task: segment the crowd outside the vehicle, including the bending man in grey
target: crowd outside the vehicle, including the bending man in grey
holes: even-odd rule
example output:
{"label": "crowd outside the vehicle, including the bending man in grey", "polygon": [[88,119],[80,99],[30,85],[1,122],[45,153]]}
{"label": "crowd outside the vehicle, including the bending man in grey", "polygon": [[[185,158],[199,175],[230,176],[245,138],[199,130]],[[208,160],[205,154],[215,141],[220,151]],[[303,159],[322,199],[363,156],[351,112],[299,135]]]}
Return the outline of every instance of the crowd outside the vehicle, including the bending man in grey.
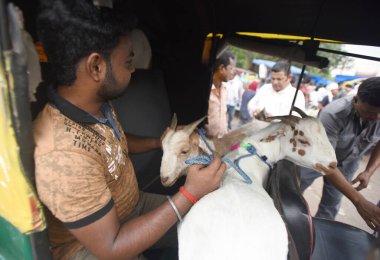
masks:
{"label": "crowd outside the vehicle, including the bending man in grey", "polygon": [[[224,102],[220,100],[218,107],[210,98],[209,126],[223,125],[223,131],[227,133],[231,129],[232,111],[236,107],[239,107],[239,124],[236,127],[252,120],[289,115],[293,103],[310,116],[319,117],[336,150],[338,170],[336,174],[324,176],[323,194],[316,216],[334,219],[343,193],[352,201],[370,227],[380,224],[380,209],[357,192],[368,186],[371,176],[380,166],[380,77],[366,79],[357,86],[338,85],[333,82],[318,87],[312,84],[309,77],[305,77],[300,84],[300,90],[297,91],[289,62],[278,61],[270,70],[268,83],[261,86],[256,81],[241,84],[239,75],[236,72],[233,74],[234,57],[230,53],[225,55],[228,55],[229,63],[217,67],[212,91],[215,84],[221,83],[226,89],[225,93],[232,95],[226,97],[229,102],[225,111],[230,112],[223,122],[213,122],[216,119],[213,116],[216,110],[223,113],[220,106],[223,106]],[[221,77],[215,76],[221,73],[220,70],[225,76],[222,82]],[[242,93],[240,89],[243,89]],[[211,95],[215,97],[213,92]],[[219,97],[222,98],[222,95]],[[218,133],[210,136],[219,138],[222,136],[221,131]],[[369,162],[365,170],[353,179],[364,155],[370,156]],[[301,167],[301,190],[304,191],[320,176],[320,172]],[[351,182],[358,184],[357,187],[354,188]]]}

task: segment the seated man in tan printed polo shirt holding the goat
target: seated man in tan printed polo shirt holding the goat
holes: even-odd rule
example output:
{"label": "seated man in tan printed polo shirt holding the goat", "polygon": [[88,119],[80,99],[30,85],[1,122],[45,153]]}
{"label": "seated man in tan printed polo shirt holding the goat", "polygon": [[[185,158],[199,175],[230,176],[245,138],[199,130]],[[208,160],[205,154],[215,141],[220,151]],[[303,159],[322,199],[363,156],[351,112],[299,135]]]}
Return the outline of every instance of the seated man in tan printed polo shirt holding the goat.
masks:
{"label": "seated man in tan printed polo shirt holding the goat", "polygon": [[190,166],[173,196],[140,192],[129,153],[160,138],[123,133],[110,99],[134,72],[130,25],[90,1],[43,2],[37,20],[54,84],[33,123],[35,174],[53,259],[141,259],[153,245],[176,248],[176,223],[220,185],[214,156]]}

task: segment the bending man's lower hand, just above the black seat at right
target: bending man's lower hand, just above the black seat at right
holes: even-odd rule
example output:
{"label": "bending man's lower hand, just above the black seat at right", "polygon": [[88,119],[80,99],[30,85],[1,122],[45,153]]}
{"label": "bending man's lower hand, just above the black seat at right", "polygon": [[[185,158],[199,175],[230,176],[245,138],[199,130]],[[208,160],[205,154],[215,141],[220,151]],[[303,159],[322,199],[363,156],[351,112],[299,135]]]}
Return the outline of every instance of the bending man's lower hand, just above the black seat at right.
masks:
{"label": "bending man's lower hand, just above the black seat at right", "polygon": [[367,225],[373,230],[380,230],[380,208],[362,197],[355,207]]}

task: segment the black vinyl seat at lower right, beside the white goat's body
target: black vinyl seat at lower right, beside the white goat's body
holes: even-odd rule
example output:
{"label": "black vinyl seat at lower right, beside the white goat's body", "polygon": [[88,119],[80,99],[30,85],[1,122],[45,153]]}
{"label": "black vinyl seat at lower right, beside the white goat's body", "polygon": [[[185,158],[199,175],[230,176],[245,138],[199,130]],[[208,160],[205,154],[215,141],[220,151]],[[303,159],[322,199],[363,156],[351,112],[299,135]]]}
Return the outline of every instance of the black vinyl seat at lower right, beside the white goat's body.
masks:
{"label": "black vinyl seat at lower right, beside the white goat's body", "polygon": [[[289,259],[360,260],[367,259],[375,237],[348,224],[311,217],[299,189],[299,168],[279,161],[271,172],[267,190],[286,223]],[[293,252],[293,254],[292,254]]]}

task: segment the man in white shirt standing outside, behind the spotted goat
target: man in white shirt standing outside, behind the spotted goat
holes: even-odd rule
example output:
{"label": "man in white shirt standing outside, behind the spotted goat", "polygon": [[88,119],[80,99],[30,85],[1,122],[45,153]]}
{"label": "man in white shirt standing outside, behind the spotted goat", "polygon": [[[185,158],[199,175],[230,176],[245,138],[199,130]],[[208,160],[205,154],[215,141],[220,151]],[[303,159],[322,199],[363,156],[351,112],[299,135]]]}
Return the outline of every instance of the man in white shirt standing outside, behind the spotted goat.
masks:
{"label": "man in white shirt standing outside, behind the spotted goat", "polygon": [[[278,61],[271,69],[271,84],[263,85],[248,103],[248,111],[257,116],[265,109],[265,116],[288,115],[296,88],[290,84],[290,64]],[[294,106],[305,110],[305,96],[298,91]]]}

